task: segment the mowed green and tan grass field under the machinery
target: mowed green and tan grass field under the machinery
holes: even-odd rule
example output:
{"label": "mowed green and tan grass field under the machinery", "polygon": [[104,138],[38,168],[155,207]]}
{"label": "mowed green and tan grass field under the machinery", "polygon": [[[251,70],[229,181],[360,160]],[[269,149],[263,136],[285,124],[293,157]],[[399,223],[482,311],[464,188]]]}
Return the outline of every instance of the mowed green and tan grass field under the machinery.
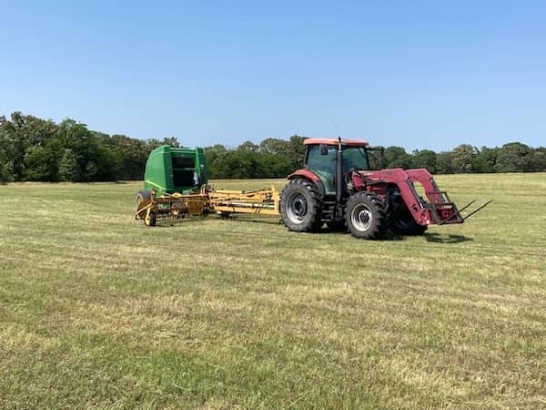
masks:
{"label": "mowed green and tan grass field under the machinery", "polygon": [[140,183],[0,186],[0,407],[546,407],[546,174],[437,180],[495,201],[359,241],[147,228]]}

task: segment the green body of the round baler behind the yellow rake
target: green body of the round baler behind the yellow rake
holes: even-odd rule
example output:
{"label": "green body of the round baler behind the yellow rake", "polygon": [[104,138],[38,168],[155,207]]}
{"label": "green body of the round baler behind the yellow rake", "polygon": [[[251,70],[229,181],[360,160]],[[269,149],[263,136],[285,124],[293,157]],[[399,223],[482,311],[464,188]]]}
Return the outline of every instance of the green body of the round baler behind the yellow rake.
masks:
{"label": "green body of the round baler behind the yellow rake", "polygon": [[187,193],[207,183],[207,163],[203,149],[174,148],[167,145],[154,149],[146,163],[145,190]]}

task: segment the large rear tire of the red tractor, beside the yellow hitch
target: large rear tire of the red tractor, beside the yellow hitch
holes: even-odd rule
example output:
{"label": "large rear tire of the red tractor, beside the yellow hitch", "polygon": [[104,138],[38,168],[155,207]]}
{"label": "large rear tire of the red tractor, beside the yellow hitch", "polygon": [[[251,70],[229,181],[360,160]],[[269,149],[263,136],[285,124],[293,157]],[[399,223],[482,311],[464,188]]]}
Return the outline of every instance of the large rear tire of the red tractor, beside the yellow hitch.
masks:
{"label": "large rear tire of the red tractor, beside the yellow hitch", "polygon": [[319,231],[322,198],[307,179],[292,179],[280,195],[280,218],[290,231]]}

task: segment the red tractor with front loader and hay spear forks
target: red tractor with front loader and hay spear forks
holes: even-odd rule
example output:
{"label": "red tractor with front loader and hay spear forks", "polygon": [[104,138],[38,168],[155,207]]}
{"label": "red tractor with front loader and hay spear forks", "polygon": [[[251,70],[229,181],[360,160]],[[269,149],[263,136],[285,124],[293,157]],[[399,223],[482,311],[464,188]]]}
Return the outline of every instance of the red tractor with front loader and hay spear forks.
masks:
{"label": "red tractor with front loader and hay spear forks", "polygon": [[304,144],[304,168],[288,176],[280,198],[290,231],[319,231],[326,223],[364,239],[382,238],[388,230],[422,235],[430,224],[462,223],[489,203],[463,218],[427,169],[371,170],[369,151],[378,148],[366,141],[308,138]]}

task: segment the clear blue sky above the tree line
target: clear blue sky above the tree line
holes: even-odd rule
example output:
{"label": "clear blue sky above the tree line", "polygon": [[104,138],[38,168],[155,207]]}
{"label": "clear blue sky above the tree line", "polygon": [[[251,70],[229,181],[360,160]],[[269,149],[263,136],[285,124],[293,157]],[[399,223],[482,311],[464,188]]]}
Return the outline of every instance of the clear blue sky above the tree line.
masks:
{"label": "clear blue sky above the tree line", "polygon": [[0,0],[14,110],[187,146],[544,146],[546,1]]}

